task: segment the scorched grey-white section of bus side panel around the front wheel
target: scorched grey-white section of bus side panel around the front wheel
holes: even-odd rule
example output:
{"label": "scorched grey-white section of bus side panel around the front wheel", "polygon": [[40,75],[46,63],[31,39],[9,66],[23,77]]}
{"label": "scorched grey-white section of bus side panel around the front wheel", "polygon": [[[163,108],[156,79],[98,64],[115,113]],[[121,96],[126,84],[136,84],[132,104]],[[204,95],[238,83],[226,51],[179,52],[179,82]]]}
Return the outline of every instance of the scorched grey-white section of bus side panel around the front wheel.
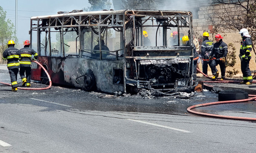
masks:
{"label": "scorched grey-white section of bus side panel around the front wheel", "polygon": [[[123,62],[110,62],[102,60],[88,60],[79,58],[67,57],[63,61],[64,82],[72,84],[75,87],[82,87],[75,82],[77,77],[85,75],[85,72],[90,69],[94,73],[96,79],[97,90],[113,93],[115,91],[124,91],[123,84],[113,83],[113,69],[123,69]],[[83,78],[78,79],[78,83],[83,83]]]}

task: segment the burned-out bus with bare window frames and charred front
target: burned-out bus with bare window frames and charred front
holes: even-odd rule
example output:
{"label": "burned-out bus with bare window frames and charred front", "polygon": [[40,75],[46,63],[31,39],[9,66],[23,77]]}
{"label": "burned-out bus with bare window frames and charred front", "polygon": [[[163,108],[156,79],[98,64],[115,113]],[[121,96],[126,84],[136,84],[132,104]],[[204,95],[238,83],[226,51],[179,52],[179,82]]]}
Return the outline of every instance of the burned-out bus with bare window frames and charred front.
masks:
{"label": "burned-out bus with bare window frames and charred front", "polygon": [[[31,17],[30,23],[31,47],[54,84],[113,93],[193,83],[189,11],[70,12]],[[191,45],[184,46],[182,36]],[[47,83],[35,63],[32,80]]]}

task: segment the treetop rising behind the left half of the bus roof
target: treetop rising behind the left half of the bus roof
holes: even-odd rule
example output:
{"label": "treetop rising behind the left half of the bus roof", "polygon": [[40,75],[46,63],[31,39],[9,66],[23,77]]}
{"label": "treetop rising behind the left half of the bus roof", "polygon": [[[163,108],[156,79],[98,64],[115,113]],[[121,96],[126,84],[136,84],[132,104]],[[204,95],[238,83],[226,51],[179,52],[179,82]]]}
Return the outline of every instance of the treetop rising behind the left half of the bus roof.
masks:
{"label": "treetop rising behind the left half of the bus roof", "polygon": [[91,4],[90,7],[83,8],[84,11],[100,11],[103,9],[110,9],[111,2],[110,0],[88,0]]}

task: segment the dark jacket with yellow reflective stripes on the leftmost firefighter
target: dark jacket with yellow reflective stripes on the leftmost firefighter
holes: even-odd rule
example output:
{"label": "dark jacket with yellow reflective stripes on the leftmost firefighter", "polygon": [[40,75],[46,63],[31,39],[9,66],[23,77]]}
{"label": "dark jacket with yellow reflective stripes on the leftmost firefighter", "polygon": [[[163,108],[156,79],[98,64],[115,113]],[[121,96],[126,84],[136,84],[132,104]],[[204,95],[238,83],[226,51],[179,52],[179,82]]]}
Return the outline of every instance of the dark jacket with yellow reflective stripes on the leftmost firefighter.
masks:
{"label": "dark jacket with yellow reflective stripes on the leftmost firefighter", "polygon": [[3,60],[7,60],[7,68],[19,68],[19,49],[9,46],[3,53]]}

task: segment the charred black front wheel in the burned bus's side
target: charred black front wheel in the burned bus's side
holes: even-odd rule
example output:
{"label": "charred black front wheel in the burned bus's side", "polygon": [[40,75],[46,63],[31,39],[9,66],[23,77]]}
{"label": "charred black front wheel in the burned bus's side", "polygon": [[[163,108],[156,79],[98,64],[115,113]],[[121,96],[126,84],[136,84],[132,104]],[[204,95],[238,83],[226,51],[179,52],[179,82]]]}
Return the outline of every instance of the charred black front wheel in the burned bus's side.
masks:
{"label": "charred black front wheel in the burned bus's side", "polygon": [[96,80],[91,69],[85,72],[84,83],[85,83],[85,91],[95,90]]}

